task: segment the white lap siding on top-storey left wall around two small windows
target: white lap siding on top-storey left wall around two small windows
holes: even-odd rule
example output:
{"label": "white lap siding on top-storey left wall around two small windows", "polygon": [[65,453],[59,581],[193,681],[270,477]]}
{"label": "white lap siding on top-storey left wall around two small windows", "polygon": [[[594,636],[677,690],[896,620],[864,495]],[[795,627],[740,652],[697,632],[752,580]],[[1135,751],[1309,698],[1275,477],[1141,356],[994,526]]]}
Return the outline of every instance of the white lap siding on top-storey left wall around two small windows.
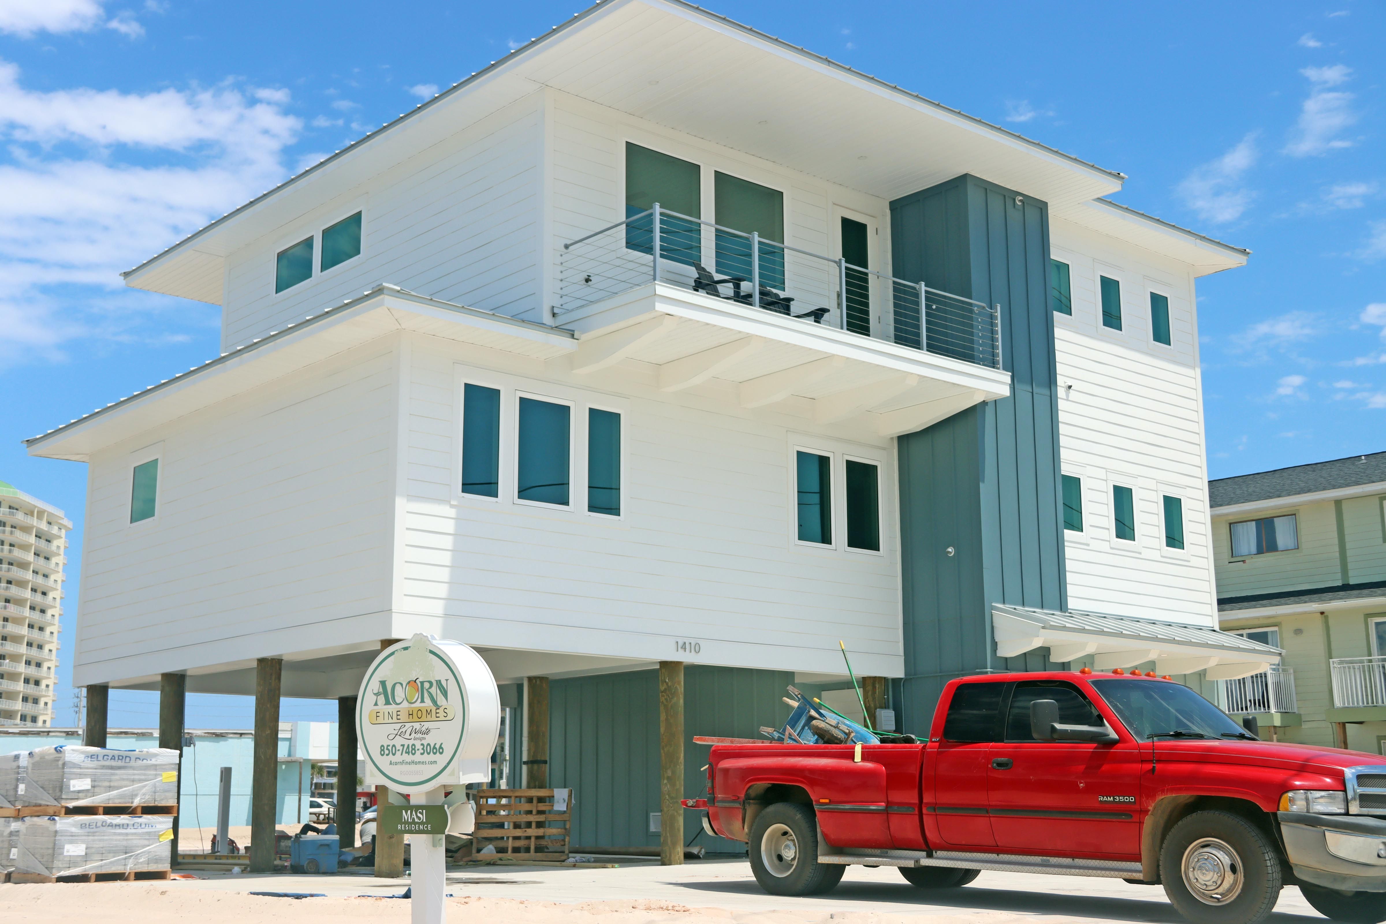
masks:
{"label": "white lap siding on top-storey left wall around two small windows", "polygon": [[[538,94],[419,151],[227,259],[223,349],[377,283],[542,320]],[[362,211],[362,255],[274,294],[276,254]],[[320,240],[320,238],[319,238]],[[322,259],[315,249],[315,269]]]}

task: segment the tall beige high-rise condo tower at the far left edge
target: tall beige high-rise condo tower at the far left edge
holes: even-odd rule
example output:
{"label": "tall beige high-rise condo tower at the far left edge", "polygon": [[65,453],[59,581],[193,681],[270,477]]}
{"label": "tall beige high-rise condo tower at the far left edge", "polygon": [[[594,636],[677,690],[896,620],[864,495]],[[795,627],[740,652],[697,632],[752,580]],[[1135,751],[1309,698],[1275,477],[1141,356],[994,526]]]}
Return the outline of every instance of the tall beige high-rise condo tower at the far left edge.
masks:
{"label": "tall beige high-rise condo tower at the far left edge", "polygon": [[71,529],[61,510],[0,481],[0,725],[53,722]]}

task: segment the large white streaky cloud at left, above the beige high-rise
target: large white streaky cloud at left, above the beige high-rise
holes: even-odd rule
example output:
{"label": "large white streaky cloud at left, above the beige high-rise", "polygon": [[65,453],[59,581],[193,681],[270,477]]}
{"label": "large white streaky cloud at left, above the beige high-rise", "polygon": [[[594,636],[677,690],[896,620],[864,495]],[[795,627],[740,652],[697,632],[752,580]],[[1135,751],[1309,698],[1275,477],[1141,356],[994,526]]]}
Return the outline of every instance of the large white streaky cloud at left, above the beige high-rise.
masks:
{"label": "large white streaky cloud at left, above the beige high-rise", "polygon": [[118,337],[134,321],[98,308],[118,273],[281,180],[299,127],[231,86],[44,93],[0,61],[0,330],[47,356]]}

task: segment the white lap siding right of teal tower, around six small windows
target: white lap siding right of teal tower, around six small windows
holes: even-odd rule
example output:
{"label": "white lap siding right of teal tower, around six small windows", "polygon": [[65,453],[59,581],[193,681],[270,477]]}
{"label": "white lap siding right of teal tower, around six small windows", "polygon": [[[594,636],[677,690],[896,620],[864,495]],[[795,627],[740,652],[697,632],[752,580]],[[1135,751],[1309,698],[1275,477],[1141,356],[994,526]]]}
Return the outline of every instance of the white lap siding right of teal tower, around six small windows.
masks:
{"label": "white lap siding right of teal tower, around six small windows", "polygon": [[[1216,625],[1192,273],[1063,222],[1052,234],[1073,295],[1073,316],[1055,314],[1060,460],[1082,479],[1069,605]],[[1099,276],[1121,283],[1121,331],[1102,327]],[[1152,290],[1170,299],[1170,346],[1152,341]],[[1114,485],[1134,492],[1135,543],[1114,539]],[[1184,506],[1184,551],[1164,546],[1166,495]]]}

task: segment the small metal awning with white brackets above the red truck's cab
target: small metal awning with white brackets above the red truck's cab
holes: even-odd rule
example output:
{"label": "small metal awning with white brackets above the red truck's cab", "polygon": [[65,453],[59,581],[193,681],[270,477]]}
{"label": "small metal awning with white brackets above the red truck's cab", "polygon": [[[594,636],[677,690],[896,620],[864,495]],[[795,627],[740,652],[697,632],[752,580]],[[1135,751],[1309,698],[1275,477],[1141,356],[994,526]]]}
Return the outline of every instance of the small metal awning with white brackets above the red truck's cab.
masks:
{"label": "small metal awning with white brackets above the red truck's cab", "polygon": [[1235,680],[1281,662],[1279,648],[1229,632],[1159,619],[992,604],[991,625],[997,657],[1048,647],[1049,659],[1062,664],[1095,655],[1096,670],[1155,661],[1157,673],[1203,670],[1209,680]]}

